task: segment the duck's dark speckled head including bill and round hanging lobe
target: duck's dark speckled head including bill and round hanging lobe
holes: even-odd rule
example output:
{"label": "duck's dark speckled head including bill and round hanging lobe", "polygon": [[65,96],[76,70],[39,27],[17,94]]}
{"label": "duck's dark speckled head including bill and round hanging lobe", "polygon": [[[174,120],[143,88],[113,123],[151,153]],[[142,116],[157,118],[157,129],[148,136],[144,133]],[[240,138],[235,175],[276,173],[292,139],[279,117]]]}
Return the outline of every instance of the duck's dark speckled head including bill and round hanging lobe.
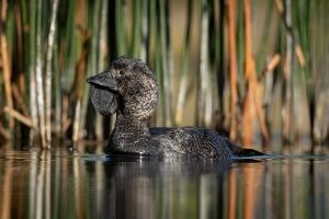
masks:
{"label": "duck's dark speckled head including bill and round hanging lobe", "polygon": [[91,102],[102,115],[118,112],[148,118],[157,107],[158,85],[152,71],[139,59],[120,57],[110,69],[87,79]]}

